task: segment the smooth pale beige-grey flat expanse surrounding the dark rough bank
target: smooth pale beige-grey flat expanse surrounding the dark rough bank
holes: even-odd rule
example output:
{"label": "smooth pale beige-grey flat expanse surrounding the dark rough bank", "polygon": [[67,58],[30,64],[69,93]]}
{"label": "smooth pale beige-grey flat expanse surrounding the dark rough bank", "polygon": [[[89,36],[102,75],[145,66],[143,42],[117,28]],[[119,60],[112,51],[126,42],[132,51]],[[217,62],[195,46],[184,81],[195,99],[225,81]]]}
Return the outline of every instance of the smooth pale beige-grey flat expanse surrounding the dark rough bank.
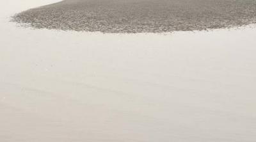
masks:
{"label": "smooth pale beige-grey flat expanse surrounding the dark rough bank", "polygon": [[255,142],[256,28],[31,29],[0,0],[0,141]]}

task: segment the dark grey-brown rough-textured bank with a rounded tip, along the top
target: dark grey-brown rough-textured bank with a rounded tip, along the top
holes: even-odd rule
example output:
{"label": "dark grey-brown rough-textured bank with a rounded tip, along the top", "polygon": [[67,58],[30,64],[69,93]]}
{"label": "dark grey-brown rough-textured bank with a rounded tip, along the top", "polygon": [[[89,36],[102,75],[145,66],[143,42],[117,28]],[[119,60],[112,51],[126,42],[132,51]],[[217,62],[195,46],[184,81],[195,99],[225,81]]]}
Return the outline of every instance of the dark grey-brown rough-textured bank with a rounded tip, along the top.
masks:
{"label": "dark grey-brown rough-textured bank with a rounded tip, along the top", "polygon": [[256,23],[256,0],[65,0],[13,16],[33,28],[163,33]]}

